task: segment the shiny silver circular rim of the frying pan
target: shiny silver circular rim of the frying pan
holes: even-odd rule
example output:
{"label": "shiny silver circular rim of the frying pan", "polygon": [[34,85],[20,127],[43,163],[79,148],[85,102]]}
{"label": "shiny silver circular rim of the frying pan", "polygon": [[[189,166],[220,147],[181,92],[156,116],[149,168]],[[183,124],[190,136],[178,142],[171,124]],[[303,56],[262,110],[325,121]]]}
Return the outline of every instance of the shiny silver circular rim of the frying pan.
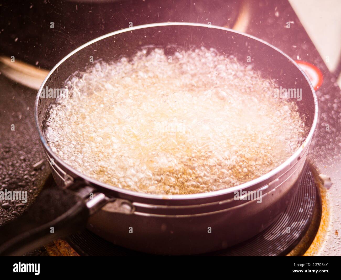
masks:
{"label": "shiny silver circular rim of the frying pan", "polygon": [[[105,39],[107,37],[110,36],[114,36],[120,33],[124,33],[124,32],[129,32],[132,30],[137,30],[137,29],[143,29],[143,28],[149,28],[149,27],[161,27],[161,26],[197,26],[197,27],[207,27],[207,28],[215,28],[215,29],[221,29],[224,31],[229,31],[229,32],[233,32],[233,33],[237,33],[240,35],[243,35],[245,37],[251,38],[253,40],[256,40],[258,42],[261,42],[271,48],[273,48],[274,50],[276,50],[278,53],[282,54],[284,57],[286,57],[289,61],[292,62],[292,64],[294,64],[299,71],[303,74],[303,76],[306,78],[306,80],[308,81],[308,84],[310,86],[312,95],[313,95],[313,99],[314,99],[314,118],[313,118],[313,123],[311,125],[310,131],[308,133],[308,136],[306,137],[306,139],[303,141],[303,143],[300,145],[300,147],[297,149],[297,151],[290,156],[288,159],[285,160],[284,163],[282,163],[281,165],[279,165],[278,167],[276,167],[275,169],[272,169],[270,172],[264,174],[261,177],[258,177],[256,179],[253,179],[251,181],[248,181],[246,183],[234,186],[234,187],[230,187],[230,188],[226,188],[223,190],[219,190],[219,191],[213,191],[213,192],[208,192],[208,193],[199,193],[199,194],[183,194],[183,195],[172,195],[172,196],[168,196],[168,195],[155,195],[155,194],[145,194],[145,193],[139,193],[139,192],[134,192],[134,191],[130,191],[130,190],[126,190],[123,188],[119,188],[113,185],[109,185],[109,184],[105,184],[102,183],[98,180],[92,179],[88,176],[86,176],[83,173],[80,173],[78,170],[72,168],[71,166],[67,165],[66,163],[63,162],[63,160],[61,160],[49,147],[49,145],[46,142],[46,139],[43,135],[42,129],[39,125],[39,121],[38,121],[38,104],[39,104],[39,98],[40,98],[40,93],[41,90],[43,89],[45,83],[47,82],[47,80],[49,79],[49,77],[51,76],[51,74],[53,74],[53,72],[69,57],[71,57],[72,55],[74,55],[75,53],[77,53],[78,51],[80,51],[81,49],[91,45],[92,43],[95,43],[97,41],[100,41],[102,39]],[[100,185],[103,188],[106,188],[108,190],[112,190],[112,191],[116,191],[116,192],[120,192],[120,193],[124,193],[130,196],[137,196],[137,197],[141,197],[141,198],[149,198],[149,199],[171,199],[171,200],[183,200],[183,199],[200,199],[200,198],[206,198],[206,197],[214,197],[214,196],[219,196],[219,195],[224,195],[224,194],[229,194],[229,193],[233,193],[236,190],[243,190],[244,188],[250,187],[254,184],[258,184],[261,183],[262,181],[268,180],[269,178],[276,176],[277,173],[280,173],[286,166],[291,165],[294,160],[297,160],[297,158],[299,158],[302,154],[304,154],[307,145],[310,144],[310,141],[313,137],[313,133],[314,130],[316,129],[317,126],[317,118],[318,118],[318,101],[317,101],[317,96],[315,93],[315,90],[311,84],[311,82],[309,81],[307,75],[305,74],[305,72],[303,72],[303,70],[297,65],[297,63],[290,58],[288,55],[286,55],[285,53],[283,53],[281,50],[279,50],[277,47],[272,46],[271,44],[258,39],[254,36],[251,36],[249,34],[243,33],[243,32],[238,32],[229,28],[225,28],[225,27],[220,27],[220,26],[215,26],[215,25],[208,25],[208,24],[200,24],[200,23],[184,23],[184,22],[168,22],[168,23],[153,23],[153,24],[145,24],[145,25],[139,25],[139,26],[135,26],[135,27],[130,27],[130,28],[125,28],[125,29],[121,29],[118,31],[114,31],[114,32],[110,32],[108,34],[105,34],[103,36],[100,36],[96,39],[93,39],[87,43],[85,43],[84,45],[81,45],[80,47],[76,48],[74,51],[72,51],[71,53],[69,53],[68,55],[66,55],[63,59],[61,59],[56,66],[48,73],[48,75],[46,76],[46,78],[44,79],[42,85],[40,86],[40,89],[38,91],[38,94],[36,96],[35,99],[35,104],[34,104],[34,118],[35,118],[35,124],[38,128],[38,132],[39,132],[39,136],[40,139],[42,141],[42,144],[44,146],[44,148],[51,154],[54,156],[54,158],[58,158],[60,164],[65,168],[68,169],[70,171],[72,171],[74,174],[76,174],[76,176],[83,178],[85,180],[87,180],[89,183],[92,183],[94,185]]]}

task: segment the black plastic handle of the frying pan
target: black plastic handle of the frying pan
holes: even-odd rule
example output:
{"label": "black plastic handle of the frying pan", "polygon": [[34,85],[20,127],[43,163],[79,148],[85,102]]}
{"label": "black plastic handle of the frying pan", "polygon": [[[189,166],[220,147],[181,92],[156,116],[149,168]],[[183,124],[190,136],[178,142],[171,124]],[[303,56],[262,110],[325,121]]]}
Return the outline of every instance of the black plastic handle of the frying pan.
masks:
{"label": "black plastic handle of the frying pan", "polygon": [[0,255],[23,255],[78,232],[85,227],[90,211],[79,193],[61,188],[45,189],[23,215],[0,227]]}

